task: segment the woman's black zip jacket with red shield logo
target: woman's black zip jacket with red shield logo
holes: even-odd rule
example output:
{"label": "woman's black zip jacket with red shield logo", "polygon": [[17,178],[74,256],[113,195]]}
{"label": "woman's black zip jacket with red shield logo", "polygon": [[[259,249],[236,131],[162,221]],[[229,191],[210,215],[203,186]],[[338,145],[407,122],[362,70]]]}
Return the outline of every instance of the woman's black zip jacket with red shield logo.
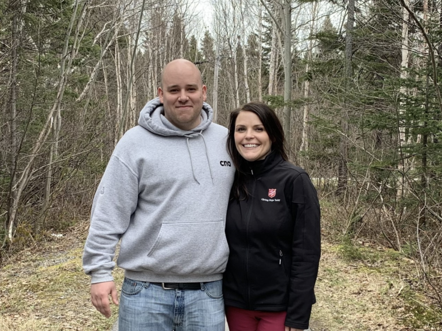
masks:
{"label": "woman's black zip jacket with red shield logo", "polygon": [[249,162],[249,198],[232,198],[226,305],[287,311],[285,325],[308,329],[321,255],[320,208],[307,173],[276,153]]}

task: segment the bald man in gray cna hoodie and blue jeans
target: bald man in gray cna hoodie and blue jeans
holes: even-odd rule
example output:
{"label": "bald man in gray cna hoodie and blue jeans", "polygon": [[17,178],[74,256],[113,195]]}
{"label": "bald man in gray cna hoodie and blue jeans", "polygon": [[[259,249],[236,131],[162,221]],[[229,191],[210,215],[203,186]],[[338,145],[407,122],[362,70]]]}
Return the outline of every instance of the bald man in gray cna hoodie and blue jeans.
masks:
{"label": "bald man in gray cna hoodie and blue jeans", "polygon": [[211,123],[201,73],[166,65],[158,96],[121,138],[95,194],[83,268],[91,301],[111,316],[111,270],[125,270],[119,331],[223,331],[225,215],[234,168],[227,129]]}

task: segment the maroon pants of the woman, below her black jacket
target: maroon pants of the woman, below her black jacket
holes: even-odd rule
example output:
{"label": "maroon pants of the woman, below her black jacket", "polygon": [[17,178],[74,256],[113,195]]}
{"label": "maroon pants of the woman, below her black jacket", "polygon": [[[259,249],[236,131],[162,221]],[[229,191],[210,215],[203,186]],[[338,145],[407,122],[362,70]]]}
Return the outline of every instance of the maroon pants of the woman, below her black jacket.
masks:
{"label": "maroon pants of the woman, below her black jacket", "polygon": [[225,306],[230,331],[284,331],[286,311],[254,311]]}

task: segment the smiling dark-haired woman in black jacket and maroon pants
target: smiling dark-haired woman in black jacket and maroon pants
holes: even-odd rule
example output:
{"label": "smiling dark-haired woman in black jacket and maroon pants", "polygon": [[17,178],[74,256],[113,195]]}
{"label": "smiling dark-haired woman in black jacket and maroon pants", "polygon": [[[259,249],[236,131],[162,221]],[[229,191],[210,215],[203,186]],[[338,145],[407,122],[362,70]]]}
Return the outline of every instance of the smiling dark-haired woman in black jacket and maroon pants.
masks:
{"label": "smiling dark-haired woman in black jacket and maroon pants", "polygon": [[236,167],[227,210],[223,277],[230,331],[308,329],[321,254],[316,191],[287,161],[275,112],[250,102],[230,114],[227,149]]}

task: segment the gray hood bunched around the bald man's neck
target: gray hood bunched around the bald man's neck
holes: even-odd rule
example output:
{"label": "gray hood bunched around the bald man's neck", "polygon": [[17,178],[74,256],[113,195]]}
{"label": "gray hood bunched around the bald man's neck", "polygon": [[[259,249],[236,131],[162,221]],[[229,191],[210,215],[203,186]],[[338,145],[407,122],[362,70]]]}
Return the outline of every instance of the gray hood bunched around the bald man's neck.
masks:
{"label": "gray hood bunched around the bald man's neck", "polygon": [[167,120],[160,98],[155,98],[149,101],[140,111],[138,124],[144,129],[160,136],[187,136],[207,129],[212,123],[212,119],[212,107],[204,102],[201,109],[201,123],[190,131],[181,130]]}

